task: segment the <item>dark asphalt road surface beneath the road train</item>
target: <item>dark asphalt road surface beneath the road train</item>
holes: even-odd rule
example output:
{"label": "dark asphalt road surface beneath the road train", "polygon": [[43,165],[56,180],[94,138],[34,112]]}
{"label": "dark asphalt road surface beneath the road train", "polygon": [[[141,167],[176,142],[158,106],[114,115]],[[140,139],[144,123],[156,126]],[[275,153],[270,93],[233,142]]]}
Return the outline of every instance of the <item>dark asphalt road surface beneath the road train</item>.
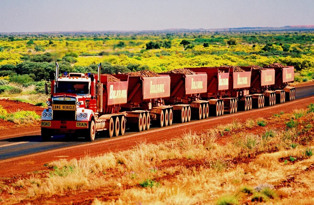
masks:
{"label": "dark asphalt road surface beneath the road train", "polygon": [[[295,93],[296,93],[295,99],[313,96],[314,86],[312,85],[312,86],[305,86],[305,87],[296,87]],[[289,102],[286,102],[286,103],[289,103]],[[275,106],[280,106],[280,105],[275,105]],[[241,112],[244,112],[244,111],[241,111]],[[191,122],[193,121],[194,120],[191,120]],[[150,128],[150,130],[154,130],[154,129],[160,129],[160,128]],[[36,135],[12,137],[9,139],[0,140],[0,160],[6,160],[6,159],[11,159],[15,157],[24,156],[24,155],[39,153],[43,151],[55,150],[59,148],[65,148],[65,147],[71,147],[75,145],[90,143],[90,142],[85,142],[83,138],[68,140],[64,138],[64,136],[62,135],[53,136],[50,142],[43,142],[41,140],[40,133],[38,132],[35,134]],[[134,134],[134,132],[126,131],[125,135],[129,135],[129,134]],[[106,139],[108,138],[100,138],[96,136],[96,139],[94,142],[99,142]]]}

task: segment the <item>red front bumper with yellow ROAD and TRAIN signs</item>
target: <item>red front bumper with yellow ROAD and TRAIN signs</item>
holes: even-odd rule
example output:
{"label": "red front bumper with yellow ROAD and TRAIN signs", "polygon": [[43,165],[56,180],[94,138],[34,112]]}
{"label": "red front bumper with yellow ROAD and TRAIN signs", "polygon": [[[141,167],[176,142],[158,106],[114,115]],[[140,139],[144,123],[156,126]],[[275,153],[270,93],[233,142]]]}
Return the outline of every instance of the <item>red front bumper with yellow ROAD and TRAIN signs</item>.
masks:
{"label": "red front bumper with yellow ROAD and TRAIN signs", "polygon": [[87,129],[88,121],[41,120],[41,128],[71,132],[70,130]]}

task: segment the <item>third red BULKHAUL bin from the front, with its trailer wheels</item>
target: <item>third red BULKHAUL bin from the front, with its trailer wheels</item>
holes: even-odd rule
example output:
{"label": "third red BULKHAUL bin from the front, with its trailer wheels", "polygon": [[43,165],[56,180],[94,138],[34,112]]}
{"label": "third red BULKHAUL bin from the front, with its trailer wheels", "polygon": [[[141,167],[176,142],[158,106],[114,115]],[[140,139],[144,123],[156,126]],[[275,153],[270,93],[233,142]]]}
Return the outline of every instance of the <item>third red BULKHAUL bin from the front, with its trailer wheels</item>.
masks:
{"label": "third red BULKHAUL bin from the front, with its trailer wheels", "polygon": [[193,119],[208,118],[209,104],[201,100],[200,93],[206,92],[206,73],[160,73],[170,76],[170,96],[164,98],[166,105],[173,107],[174,121],[189,122]]}

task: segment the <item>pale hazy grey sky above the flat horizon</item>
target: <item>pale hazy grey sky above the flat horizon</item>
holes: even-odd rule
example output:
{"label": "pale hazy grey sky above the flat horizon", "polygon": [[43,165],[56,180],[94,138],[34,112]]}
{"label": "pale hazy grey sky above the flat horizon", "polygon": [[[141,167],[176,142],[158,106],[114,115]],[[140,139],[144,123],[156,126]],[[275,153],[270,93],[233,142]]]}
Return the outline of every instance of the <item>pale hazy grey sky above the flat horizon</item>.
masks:
{"label": "pale hazy grey sky above the flat horizon", "polygon": [[0,32],[313,24],[313,0],[0,0]]}

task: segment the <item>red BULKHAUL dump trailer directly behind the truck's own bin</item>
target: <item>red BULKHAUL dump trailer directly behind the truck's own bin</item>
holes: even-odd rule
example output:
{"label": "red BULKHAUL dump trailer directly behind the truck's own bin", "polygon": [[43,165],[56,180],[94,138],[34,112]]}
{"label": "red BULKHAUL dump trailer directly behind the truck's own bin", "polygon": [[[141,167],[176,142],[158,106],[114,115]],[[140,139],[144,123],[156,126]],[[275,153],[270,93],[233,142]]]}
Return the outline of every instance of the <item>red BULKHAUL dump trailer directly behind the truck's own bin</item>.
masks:
{"label": "red BULKHAUL dump trailer directly behind the truck's own bin", "polygon": [[127,103],[121,108],[127,113],[127,126],[135,131],[148,130],[150,124],[168,126],[173,121],[173,107],[165,105],[163,98],[170,96],[170,77],[143,77],[124,74],[113,75],[128,79]]}

